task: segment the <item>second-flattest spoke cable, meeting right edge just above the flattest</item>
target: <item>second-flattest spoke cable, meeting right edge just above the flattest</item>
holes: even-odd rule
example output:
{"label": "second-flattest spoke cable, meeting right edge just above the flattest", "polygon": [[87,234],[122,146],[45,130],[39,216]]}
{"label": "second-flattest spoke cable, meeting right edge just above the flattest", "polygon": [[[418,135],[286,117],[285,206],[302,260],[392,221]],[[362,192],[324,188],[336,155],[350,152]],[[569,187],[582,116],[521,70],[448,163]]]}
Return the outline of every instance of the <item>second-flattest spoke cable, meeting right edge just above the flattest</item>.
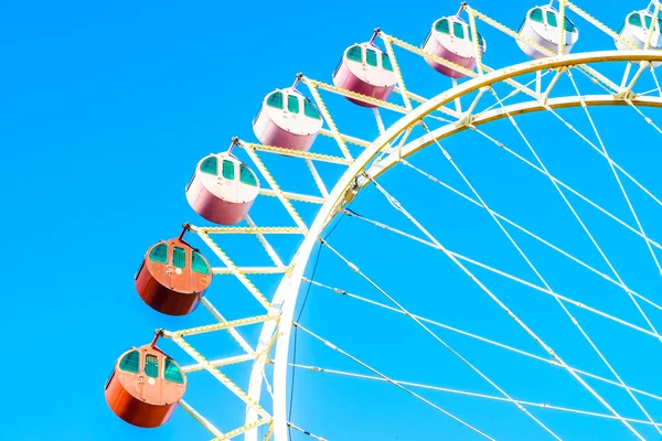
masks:
{"label": "second-flattest spoke cable, meeting right edge just above the flattest", "polygon": [[[332,291],[332,292],[334,292],[334,293],[337,293],[339,295],[348,297],[348,298],[351,298],[351,299],[354,299],[354,300],[359,300],[359,301],[365,302],[367,304],[372,304],[372,305],[381,308],[381,309],[385,309],[385,310],[388,310],[388,311],[392,311],[392,312],[397,312],[399,314],[404,314],[404,312],[401,311],[401,310],[398,310],[397,308],[393,308],[393,306],[389,306],[387,304],[380,303],[380,302],[377,302],[375,300],[371,300],[371,299],[367,299],[367,298],[354,294],[352,292],[342,290],[340,288],[333,288],[333,287],[330,287],[328,284],[318,282],[318,281],[308,280],[308,279],[302,279],[302,280],[305,282],[308,282],[308,283],[314,284],[317,287],[323,288],[325,290]],[[520,355],[523,355],[523,356],[526,356],[526,357],[530,357],[532,359],[544,362],[544,363],[546,363],[546,364],[548,364],[551,366],[563,367],[558,362],[556,362],[554,359],[541,357],[540,355],[535,355],[535,354],[532,354],[530,352],[526,352],[526,351],[523,351],[523,349],[519,349],[516,347],[513,347],[513,346],[510,346],[510,345],[506,345],[506,344],[503,344],[503,343],[499,343],[496,341],[493,341],[493,340],[490,340],[490,338],[487,338],[487,337],[483,337],[483,336],[480,336],[480,335],[477,335],[477,334],[473,334],[473,333],[470,333],[470,332],[467,332],[467,331],[462,331],[462,330],[459,330],[459,329],[453,327],[453,326],[449,326],[447,324],[437,322],[437,321],[431,320],[431,319],[424,318],[421,315],[416,315],[416,314],[414,314],[414,315],[417,319],[419,319],[420,321],[429,323],[429,324],[431,324],[434,326],[438,326],[438,327],[445,329],[447,331],[451,331],[451,332],[455,332],[457,334],[465,335],[467,337],[470,337],[470,338],[473,338],[473,340],[477,340],[477,341],[480,341],[480,342],[483,342],[483,343],[487,343],[487,344],[490,344],[490,345],[493,345],[493,346],[496,346],[496,347],[500,347],[500,348],[503,348],[503,349],[506,349],[506,351],[510,351],[510,352],[513,352],[513,353],[516,353],[516,354],[520,354]],[[595,375],[595,374],[591,374],[591,373],[586,372],[586,370],[577,369],[575,367],[570,367],[570,369],[574,370],[574,372],[576,372],[579,375],[594,378],[594,379],[596,379],[598,381],[602,381],[602,383],[606,383],[606,384],[609,384],[609,385],[612,385],[612,386],[624,388],[624,389],[631,390],[631,391],[633,391],[636,394],[640,394],[640,395],[643,395],[643,396],[647,396],[647,397],[650,397],[650,398],[653,398],[653,399],[662,401],[662,396],[654,395],[654,394],[651,394],[651,392],[648,392],[645,390],[641,390],[641,389],[638,389],[638,388],[634,388],[634,387],[631,387],[631,386],[628,386],[628,385],[622,385],[622,384],[617,383],[615,380],[611,380],[611,379],[608,379],[608,378],[605,378],[605,377],[600,377],[599,375]]]}

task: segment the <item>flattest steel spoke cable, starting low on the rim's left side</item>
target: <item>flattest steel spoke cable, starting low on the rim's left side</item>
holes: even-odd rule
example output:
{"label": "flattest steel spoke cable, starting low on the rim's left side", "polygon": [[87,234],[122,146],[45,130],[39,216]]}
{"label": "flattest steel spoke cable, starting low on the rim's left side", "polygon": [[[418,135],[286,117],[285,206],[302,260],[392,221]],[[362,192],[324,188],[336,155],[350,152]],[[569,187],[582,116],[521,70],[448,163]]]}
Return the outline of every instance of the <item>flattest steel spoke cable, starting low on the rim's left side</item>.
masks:
{"label": "flattest steel spoke cable, starting low on the rim's left side", "polygon": [[[298,365],[298,364],[288,364],[288,365],[299,368],[299,369],[317,372],[320,374],[333,374],[333,375],[340,375],[340,376],[345,376],[345,377],[351,377],[351,378],[360,378],[360,379],[367,379],[367,380],[384,383],[383,378],[375,377],[373,375],[356,374],[356,373],[350,373],[350,372],[338,370],[338,369],[329,369],[329,368],[319,367],[319,366],[306,366],[306,365]],[[431,386],[431,385],[414,383],[414,381],[403,381],[403,380],[394,380],[394,381],[399,383],[401,385],[404,385],[404,386],[416,387],[416,388],[420,388],[420,389],[428,389],[428,390],[435,390],[435,391],[441,391],[441,392],[448,392],[448,394],[455,394],[455,395],[462,395],[462,396],[473,397],[473,398],[484,398],[484,399],[493,400],[493,401],[508,401],[508,399],[505,399],[503,397],[498,397],[494,395],[479,394],[479,392],[452,389],[452,388],[440,387],[440,386]],[[537,407],[541,409],[558,410],[558,411],[568,412],[568,413],[577,413],[577,415],[584,415],[587,417],[597,417],[597,418],[605,418],[605,419],[610,419],[610,420],[617,419],[612,415],[591,412],[589,410],[580,410],[580,409],[574,409],[574,408],[568,408],[568,407],[563,407],[563,406],[547,405],[544,402],[534,402],[534,401],[524,401],[524,400],[515,400],[515,401],[517,401],[522,406]],[[654,426],[654,427],[662,426],[662,422],[653,422],[653,421],[640,420],[640,419],[636,419],[636,418],[623,418],[623,420],[626,420],[628,422],[634,422],[638,424],[647,424],[647,426]]]}

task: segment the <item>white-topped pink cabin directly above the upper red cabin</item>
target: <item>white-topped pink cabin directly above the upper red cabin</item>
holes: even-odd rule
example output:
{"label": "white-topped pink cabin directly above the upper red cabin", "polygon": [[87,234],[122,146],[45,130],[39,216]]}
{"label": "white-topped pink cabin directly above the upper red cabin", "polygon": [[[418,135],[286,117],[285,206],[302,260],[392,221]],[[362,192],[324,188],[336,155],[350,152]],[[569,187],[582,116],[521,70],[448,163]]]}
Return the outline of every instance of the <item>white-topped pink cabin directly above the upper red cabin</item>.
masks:
{"label": "white-topped pink cabin directly above the upper red cabin", "polygon": [[259,181],[253,170],[228,152],[200,161],[186,186],[193,211],[221,225],[239,223],[258,193]]}

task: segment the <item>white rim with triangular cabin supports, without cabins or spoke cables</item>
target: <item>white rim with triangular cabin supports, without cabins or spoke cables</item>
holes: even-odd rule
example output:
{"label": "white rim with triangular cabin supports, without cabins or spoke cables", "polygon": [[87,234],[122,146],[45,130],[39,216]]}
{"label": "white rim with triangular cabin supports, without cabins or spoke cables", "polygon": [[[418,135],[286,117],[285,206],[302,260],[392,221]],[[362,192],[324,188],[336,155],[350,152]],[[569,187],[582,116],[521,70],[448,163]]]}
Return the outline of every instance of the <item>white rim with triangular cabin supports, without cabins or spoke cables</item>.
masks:
{"label": "white rim with triangular cabin supports, without cabins or spoke cables", "polygon": [[[579,9],[577,6],[572,3],[569,0],[559,0],[562,22],[563,17],[567,10],[572,10],[586,19],[598,29],[602,30],[611,37],[620,39],[610,29],[605,26],[598,20]],[[658,11],[660,3],[655,3]],[[490,19],[481,12],[466,6],[467,13],[469,14],[469,21],[471,25],[471,32],[473,33],[474,44],[478,44],[477,39],[477,19],[484,23],[492,25],[493,28],[506,33],[508,35],[523,40],[527,44],[537,46],[535,43],[523,39],[514,31],[508,29],[503,24]],[[559,26],[563,28],[563,26]],[[467,129],[476,129],[477,127],[498,120],[502,118],[510,118],[514,115],[521,115],[526,112],[551,110],[567,107],[587,107],[587,106],[631,106],[636,110],[640,111],[638,107],[662,107],[662,92],[660,96],[637,96],[632,93],[632,87],[639,79],[642,72],[650,67],[654,75],[654,71],[651,67],[651,62],[662,62],[662,54],[652,51],[606,51],[595,53],[583,53],[557,56],[551,51],[546,51],[543,47],[537,49],[549,55],[548,58],[532,61],[522,63],[514,66],[508,66],[500,69],[492,69],[482,63],[480,56],[478,56],[477,72],[467,71],[453,63],[450,63],[444,58],[439,58],[434,54],[427,53],[416,46],[413,46],[404,41],[401,41],[392,35],[384,32],[378,32],[380,37],[383,40],[388,54],[392,57],[394,71],[397,76],[397,88],[398,93],[405,103],[405,106],[395,105],[392,103],[382,101],[371,97],[355,94],[350,90],[344,90],[311,78],[303,75],[299,75],[299,80],[303,83],[310,89],[318,107],[320,108],[322,118],[328,128],[322,129],[321,135],[333,138],[340,150],[340,155],[319,154],[314,152],[299,152],[288,149],[281,149],[271,146],[261,146],[256,143],[243,142],[236,140],[236,143],[242,147],[249,158],[253,160],[257,171],[261,173],[264,180],[268,184],[268,187],[260,189],[260,194],[264,196],[276,197],[286,208],[287,213],[291,217],[293,225],[291,226],[279,226],[279,227],[259,227],[255,225],[250,217],[247,217],[248,226],[244,227],[191,227],[193,233],[196,233],[203,241],[214,251],[214,254],[225,265],[224,268],[213,268],[215,276],[232,275],[235,276],[247,289],[247,291],[264,306],[266,313],[264,315],[256,315],[247,319],[227,321],[223,315],[215,309],[215,306],[207,300],[203,300],[203,305],[214,315],[217,323],[199,326],[191,330],[182,330],[175,332],[166,332],[164,336],[172,338],[178,343],[193,359],[195,364],[185,366],[183,368],[186,373],[193,373],[196,370],[207,370],[214,377],[216,377],[223,385],[225,385],[233,394],[235,394],[246,405],[246,418],[245,426],[239,427],[229,432],[223,433],[215,428],[209,420],[201,416],[189,402],[181,402],[181,407],[192,415],[201,424],[216,437],[216,440],[226,440],[245,435],[248,441],[257,441],[257,428],[260,426],[268,426],[268,435],[275,438],[276,441],[286,441],[288,428],[303,431],[296,427],[291,421],[287,420],[287,372],[289,364],[289,346],[291,342],[291,330],[295,325],[293,313],[297,306],[298,293],[300,291],[301,281],[305,280],[303,272],[310,260],[311,252],[316,246],[316,243],[320,239],[320,235],[332,222],[332,219],[339,213],[342,213],[343,206],[346,202],[355,197],[356,191],[360,191],[364,185],[374,183],[382,173],[402,162],[405,158],[416,153],[420,149],[438,142],[438,140],[456,135]],[[622,41],[622,40],[621,40]],[[626,44],[632,46],[631,43],[623,41]],[[436,62],[446,65],[456,71],[463,72],[470,79],[461,84],[453,82],[453,87],[446,90],[431,99],[423,98],[408,90],[405,87],[399,65],[395,57],[394,46],[407,50],[416,53],[420,56],[426,56],[435,60]],[[626,77],[623,78],[622,86],[618,86],[609,78],[601,75],[598,71],[591,67],[592,64],[602,62],[628,62],[628,69]],[[634,77],[628,82],[629,66],[632,63],[639,63],[640,69]],[[581,72],[584,75],[589,76],[597,84],[600,84],[604,89],[607,90],[602,95],[590,95],[590,96],[567,96],[567,97],[554,97],[551,98],[549,94],[554,89],[556,82],[559,76],[574,68]],[[555,72],[555,76],[549,82],[546,90],[541,90],[541,78],[548,72]],[[537,82],[536,87],[531,88],[528,85],[524,85],[517,82],[517,77],[534,73],[536,74]],[[655,78],[656,80],[656,78]],[[509,95],[522,94],[532,98],[525,103],[517,103],[512,105],[503,105],[501,107],[483,110],[479,114],[474,114],[477,105],[483,97],[485,92],[494,94],[493,87],[496,84],[506,84],[511,86],[514,92]],[[327,109],[324,101],[320,95],[320,90],[330,92],[337,95],[351,97],[367,103],[377,105],[375,109],[375,119],[380,129],[380,136],[374,141],[366,141],[342,133],[335,126],[330,111]],[[470,106],[462,110],[458,104],[467,96],[478,92],[478,96],[473,98]],[[499,97],[496,97],[499,99]],[[506,97],[508,98],[508,97]],[[505,99],[503,99],[505,100]],[[499,99],[500,103],[503,100]],[[412,103],[417,103],[419,106],[413,107]],[[385,128],[380,115],[378,108],[395,111],[402,114],[403,117],[392,127]],[[452,120],[445,119],[444,117],[450,117]],[[428,133],[409,140],[409,135],[414,127],[421,125],[427,128],[424,122],[424,118],[431,117],[438,120],[447,121],[447,123],[440,128],[428,131]],[[642,115],[642,117],[644,117]],[[652,123],[644,117],[649,123]],[[654,123],[653,123],[654,126]],[[656,126],[654,126],[661,131]],[[662,132],[662,131],[661,131]],[[365,149],[357,158],[353,158],[348,149],[348,143],[359,146]],[[281,190],[274,176],[269,173],[269,170],[264,165],[257,153],[276,153],[281,155],[288,155],[299,158],[306,161],[306,165],[311,173],[316,183],[317,190],[320,195],[298,194]],[[328,162],[346,166],[348,169],[340,178],[340,180],[328,186],[329,183],[324,183],[320,178],[314,163],[316,162]],[[357,189],[356,189],[356,184]],[[310,226],[301,219],[296,208],[292,206],[292,201],[308,202],[312,204],[319,204],[320,208],[316,219]],[[270,257],[274,266],[269,267],[238,267],[229,257],[218,247],[212,239],[212,235],[221,234],[248,234],[255,235],[259,240],[267,255]],[[287,234],[287,235],[299,235],[302,236],[302,243],[298,248],[291,262],[282,262],[278,257],[276,250],[269,244],[267,236],[270,234]],[[645,237],[644,237],[645,238]],[[648,239],[648,238],[647,238]],[[250,282],[246,275],[282,275],[280,283],[269,301],[259,290]],[[256,347],[250,345],[242,337],[238,329],[246,325],[258,325],[261,323],[261,332],[259,342]],[[239,344],[243,354],[223,358],[207,361],[200,353],[197,353],[183,337],[188,335],[226,331],[235,341]],[[270,358],[274,353],[274,358]],[[227,377],[225,377],[220,367],[235,364],[235,363],[247,363],[253,362],[250,380],[247,392],[244,392],[236,385],[234,385]],[[265,376],[265,366],[267,364],[274,365],[274,375],[271,383]],[[269,415],[261,406],[263,402],[263,387],[269,391],[273,396],[273,415]],[[271,388],[273,387],[273,388]],[[514,401],[513,401],[514,402]],[[305,431],[303,431],[305,432]],[[317,435],[311,437],[321,439]]]}

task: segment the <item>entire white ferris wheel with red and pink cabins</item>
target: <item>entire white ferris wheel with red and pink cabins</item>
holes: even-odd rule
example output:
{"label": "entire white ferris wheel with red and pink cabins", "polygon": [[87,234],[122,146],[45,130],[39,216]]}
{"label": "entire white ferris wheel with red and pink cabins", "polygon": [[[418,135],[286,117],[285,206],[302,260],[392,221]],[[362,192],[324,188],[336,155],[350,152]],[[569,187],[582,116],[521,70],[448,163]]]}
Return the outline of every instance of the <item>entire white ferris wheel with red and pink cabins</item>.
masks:
{"label": "entire white ferris wheel with red and pink cabins", "polygon": [[[655,326],[662,300],[648,282],[662,276],[655,240],[662,223],[654,218],[662,201],[651,190],[659,180],[653,148],[632,135],[662,135],[653,115],[662,107],[655,73],[661,9],[651,1],[631,11],[617,32],[558,0],[523,11],[515,30],[463,2],[456,14],[420,30],[420,45],[377,29],[345,49],[332,84],[298,74],[290,87],[267,94],[253,119],[258,142],[233,138],[226,151],[192,164],[182,183],[180,196],[211,226],[184,224],[179,236],[146,251],[135,275],[147,305],[197,324],[158,330],[151,343],[120,354],[105,386],[110,409],[130,424],[157,428],[181,407],[215,440],[348,433],[335,417],[320,428],[292,419],[292,406],[313,415],[327,399],[299,401],[293,375],[307,373],[389,387],[395,399],[407,400],[404,406],[426,409],[419,424],[453,430],[442,439],[509,439],[499,429],[504,422],[531,430],[515,439],[576,439],[548,413],[606,421],[613,439],[662,437],[662,394],[644,387],[648,374],[638,370],[649,373],[644,365],[659,362],[654,351],[662,343],[662,324]],[[580,52],[580,28],[594,33],[599,50]],[[519,62],[488,66],[490,52],[501,51],[496,41],[516,43],[508,50],[519,47]],[[417,93],[430,78],[438,90]],[[366,115],[372,121],[364,133],[342,129]],[[622,140],[610,142],[617,136]],[[541,148],[546,143],[549,149]],[[589,160],[600,173],[581,162]],[[536,215],[536,207],[544,211]],[[342,219],[353,224],[345,240],[334,243]],[[583,248],[574,248],[581,240]],[[623,248],[626,240],[637,255]],[[338,268],[323,270],[322,251]],[[433,254],[444,263],[431,266]],[[644,269],[651,279],[640,275]],[[433,294],[451,279],[462,284]],[[303,323],[311,289],[333,300],[318,303],[316,319]],[[357,312],[350,312],[354,306]],[[398,341],[386,319],[367,325],[363,319],[374,311],[396,318],[398,333],[425,338],[425,352]],[[342,335],[334,334],[339,327]],[[220,334],[233,342],[218,343]],[[509,343],[515,334],[526,343]],[[297,358],[302,338],[318,345],[309,354],[327,351],[341,367]],[[624,356],[637,338],[645,343]],[[159,348],[167,341],[181,356]],[[376,357],[377,349],[362,356],[361,347],[384,342],[413,352],[398,364]],[[441,369],[430,363],[433,352],[449,357],[445,386],[423,373]],[[500,363],[512,372],[500,377],[490,368]],[[515,374],[520,363],[524,370]],[[241,380],[229,369],[242,372]],[[453,385],[452,369],[470,373],[481,388]],[[565,383],[545,380],[545,373]],[[228,392],[215,409],[223,427],[185,396],[204,375]],[[526,386],[517,387],[517,379]],[[577,406],[548,401],[545,391],[576,398]],[[512,420],[495,422],[491,410],[456,406],[449,397],[512,409],[504,413]],[[412,437],[402,438],[420,438]]]}

